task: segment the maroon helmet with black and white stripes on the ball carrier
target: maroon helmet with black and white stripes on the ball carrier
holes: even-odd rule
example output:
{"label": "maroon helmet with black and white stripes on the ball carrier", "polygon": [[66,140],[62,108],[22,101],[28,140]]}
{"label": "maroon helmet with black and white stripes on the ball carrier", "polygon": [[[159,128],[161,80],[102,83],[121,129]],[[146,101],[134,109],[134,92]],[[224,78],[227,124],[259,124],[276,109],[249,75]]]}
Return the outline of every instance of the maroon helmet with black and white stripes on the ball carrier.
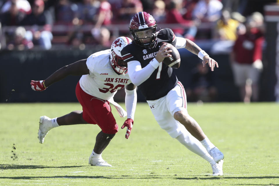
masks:
{"label": "maroon helmet with black and white stripes on the ball carrier", "polygon": [[150,47],[157,39],[157,23],[149,13],[137,12],[132,17],[129,28],[135,43],[142,47]]}

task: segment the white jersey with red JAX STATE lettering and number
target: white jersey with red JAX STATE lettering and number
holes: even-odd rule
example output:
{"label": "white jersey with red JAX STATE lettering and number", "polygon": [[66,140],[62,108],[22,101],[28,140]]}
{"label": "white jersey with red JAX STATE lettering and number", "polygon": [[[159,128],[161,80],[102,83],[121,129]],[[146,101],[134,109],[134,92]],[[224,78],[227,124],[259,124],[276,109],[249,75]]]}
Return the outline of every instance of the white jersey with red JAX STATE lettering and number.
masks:
{"label": "white jersey with red JAX STATE lettering and number", "polygon": [[81,89],[97,98],[109,100],[117,90],[130,84],[128,73],[117,74],[110,65],[110,49],[96,52],[86,61],[89,74],[81,76]]}

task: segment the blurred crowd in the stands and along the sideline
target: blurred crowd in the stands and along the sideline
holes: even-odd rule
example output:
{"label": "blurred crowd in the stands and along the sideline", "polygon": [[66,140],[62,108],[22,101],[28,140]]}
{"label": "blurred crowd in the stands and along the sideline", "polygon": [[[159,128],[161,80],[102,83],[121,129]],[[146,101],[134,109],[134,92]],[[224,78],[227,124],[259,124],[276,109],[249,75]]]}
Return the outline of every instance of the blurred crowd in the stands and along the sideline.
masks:
{"label": "blurred crowd in the stands and along the sideline", "polygon": [[[249,103],[259,100],[266,47],[264,6],[272,3],[278,1],[0,0],[0,52],[108,49],[119,36],[133,39],[130,19],[146,11],[158,28],[171,28],[176,36],[210,48],[211,54],[229,54],[240,101]],[[189,101],[218,101],[216,78],[209,69],[196,64],[190,74],[185,87]]]}

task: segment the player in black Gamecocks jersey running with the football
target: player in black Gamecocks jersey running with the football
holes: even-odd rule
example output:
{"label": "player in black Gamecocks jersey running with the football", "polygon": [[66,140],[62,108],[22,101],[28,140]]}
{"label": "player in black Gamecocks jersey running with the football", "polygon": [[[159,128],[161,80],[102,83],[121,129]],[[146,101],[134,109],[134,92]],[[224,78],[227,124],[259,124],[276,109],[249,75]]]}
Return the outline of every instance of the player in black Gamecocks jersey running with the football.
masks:
{"label": "player in black Gamecocks jersey running with the football", "polygon": [[128,65],[132,83],[139,87],[160,127],[192,152],[210,162],[213,176],[223,175],[223,153],[210,142],[198,123],[187,112],[183,85],[171,67],[162,61],[171,57],[167,42],[176,48],[186,48],[208,63],[211,70],[218,63],[194,42],[176,37],[169,28],[157,31],[155,19],[146,12],[136,13],[130,22],[133,42],[121,51]]}

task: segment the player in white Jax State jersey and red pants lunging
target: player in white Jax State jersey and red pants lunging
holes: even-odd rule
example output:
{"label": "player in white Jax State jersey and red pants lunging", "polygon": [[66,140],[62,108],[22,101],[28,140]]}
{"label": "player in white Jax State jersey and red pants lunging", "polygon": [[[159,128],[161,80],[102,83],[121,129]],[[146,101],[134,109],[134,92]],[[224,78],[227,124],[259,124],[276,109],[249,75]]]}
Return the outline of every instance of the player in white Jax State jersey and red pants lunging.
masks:
{"label": "player in white Jax State jersey and red pants lunging", "polygon": [[[127,73],[125,56],[120,51],[132,40],[128,37],[118,37],[111,49],[96,52],[87,59],[79,60],[60,68],[43,81],[31,81],[31,88],[43,91],[51,84],[69,75],[82,75],[76,85],[76,97],[82,105],[82,111],[73,111],[67,115],[49,118],[40,117],[38,139],[44,142],[49,130],[62,125],[97,124],[102,130],[96,136],[94,149],[89,157],[93,166],[111,167],[103,160],[101,154],[110,140],[118,131],[118,125],[111,112],[112,103],[121,117],[126,117],[122,129],[127,127],[125,137],[128,139],[133,127],[134,113],[137,103],[136,87],[131,83]],[[127,112],[114,102],[113,96],[125,87],[125,105]],[[128,114],[128,115],[127,115]]]}

